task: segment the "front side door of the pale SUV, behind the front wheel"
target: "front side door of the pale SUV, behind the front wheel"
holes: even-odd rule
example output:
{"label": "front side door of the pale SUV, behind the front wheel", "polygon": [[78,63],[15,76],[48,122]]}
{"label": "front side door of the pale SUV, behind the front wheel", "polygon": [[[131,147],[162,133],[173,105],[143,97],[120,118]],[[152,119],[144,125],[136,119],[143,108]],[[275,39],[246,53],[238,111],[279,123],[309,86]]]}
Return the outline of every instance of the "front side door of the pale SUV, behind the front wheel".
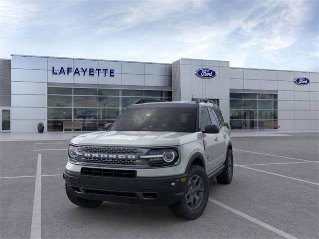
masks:
{"label": "front side door of the pale SUV, behind the front wheel", "polygon": [[[200,109],[200,131],[205,131],[205,126],[211,124],[211,118],[208,112],[208,108],[203,107]],[[217,125],[218,126],[218,125]],[[207,172],[214,170],[219,162],[220,150],[218,149],[220,142],[216,138],[220,138],[218,133],[204,133],[203,143],[205,146],[205,159]]]}

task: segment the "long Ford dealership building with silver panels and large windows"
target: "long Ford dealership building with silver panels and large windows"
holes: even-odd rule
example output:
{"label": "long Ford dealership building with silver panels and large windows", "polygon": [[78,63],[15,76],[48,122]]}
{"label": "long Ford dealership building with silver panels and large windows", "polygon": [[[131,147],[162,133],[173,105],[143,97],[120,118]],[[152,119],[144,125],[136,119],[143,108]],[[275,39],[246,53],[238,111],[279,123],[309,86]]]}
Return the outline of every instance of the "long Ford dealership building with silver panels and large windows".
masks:
{"label": "long Ford dealership building with silver panels and large windows", "polygon": [[[280,68],[280,67],[279,67]],[[11,55],[0,59],[4,132],[103,129],[139,99],[219,105],[234,130],[319,129],[319,73],[230,67],[229,61],[172,63]],[[65,128],[66,129],[66,128]]]}

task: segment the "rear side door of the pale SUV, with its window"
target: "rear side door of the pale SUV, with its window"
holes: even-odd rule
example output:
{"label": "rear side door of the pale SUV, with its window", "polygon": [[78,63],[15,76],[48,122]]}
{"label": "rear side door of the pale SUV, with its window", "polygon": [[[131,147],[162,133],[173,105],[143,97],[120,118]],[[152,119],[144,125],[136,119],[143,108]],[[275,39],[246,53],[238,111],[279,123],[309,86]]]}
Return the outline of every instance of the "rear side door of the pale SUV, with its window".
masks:
{"label": "rear side door of the pale SUV, with its window", "polygon": [[212,121],[212,124],[216,124],[219,127],[219,133],[217,134],[217,138],[214,140],[216,141],[216,154],[217,158],[216,161],[218,164],[223,164],[226,158],[226,133],[222,127],[222,124],[217,116],[216,111],[213,108],[209,108],[209,115]]}

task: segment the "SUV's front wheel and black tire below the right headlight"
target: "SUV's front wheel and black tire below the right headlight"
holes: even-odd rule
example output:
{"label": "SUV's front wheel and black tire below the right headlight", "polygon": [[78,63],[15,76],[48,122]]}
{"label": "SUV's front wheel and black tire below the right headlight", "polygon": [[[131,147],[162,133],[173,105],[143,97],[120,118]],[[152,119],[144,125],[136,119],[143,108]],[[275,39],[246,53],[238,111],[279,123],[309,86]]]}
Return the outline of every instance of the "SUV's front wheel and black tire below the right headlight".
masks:
{"label": "SUV's front wheel and black tire below the right headlight", "polygon": [[[206,171],[200,166],[192,165],[186,182],[183,199],[168,208],[176,217],[194,220],[203,214],[208,201],[209,184]],[[194,185],[196,183],[197,185]]]}

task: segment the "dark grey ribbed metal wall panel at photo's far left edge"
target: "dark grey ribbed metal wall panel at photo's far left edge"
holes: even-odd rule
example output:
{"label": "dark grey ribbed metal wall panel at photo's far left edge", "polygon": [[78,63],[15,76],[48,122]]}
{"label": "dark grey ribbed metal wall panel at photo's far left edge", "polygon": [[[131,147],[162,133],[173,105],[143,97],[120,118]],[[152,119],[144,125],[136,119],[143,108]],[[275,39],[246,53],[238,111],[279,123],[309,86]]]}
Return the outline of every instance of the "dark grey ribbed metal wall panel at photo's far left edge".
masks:
{"label": "dark grey ribbed metal wall panel at photo's far left edge", "polygon": [[0,59],[0,106],[11,107],[11,60]]}

